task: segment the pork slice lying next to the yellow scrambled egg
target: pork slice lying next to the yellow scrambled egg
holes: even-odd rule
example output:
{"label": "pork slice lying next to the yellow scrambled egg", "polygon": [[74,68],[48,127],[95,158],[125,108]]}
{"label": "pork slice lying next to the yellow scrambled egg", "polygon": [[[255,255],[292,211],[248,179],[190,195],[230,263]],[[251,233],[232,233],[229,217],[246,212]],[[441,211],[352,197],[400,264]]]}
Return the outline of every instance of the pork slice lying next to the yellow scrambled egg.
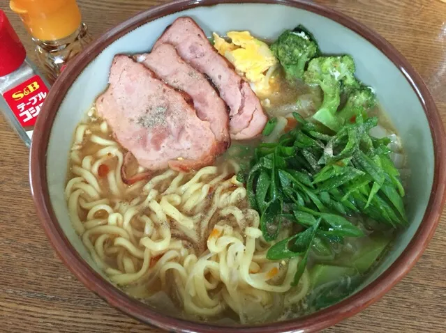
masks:
{"label": "pork slice lying next to the yellow scrambled egg", "polygon": [[221,98],[230,107],[230,135],[233,139],[250,139],[262,132],[267,116],[260,100],[248,82],[216,52],[195,21],[190,17],[179,17],[164,31],[153,49],[163,44],[173,45],[184,61],[214,82]]}

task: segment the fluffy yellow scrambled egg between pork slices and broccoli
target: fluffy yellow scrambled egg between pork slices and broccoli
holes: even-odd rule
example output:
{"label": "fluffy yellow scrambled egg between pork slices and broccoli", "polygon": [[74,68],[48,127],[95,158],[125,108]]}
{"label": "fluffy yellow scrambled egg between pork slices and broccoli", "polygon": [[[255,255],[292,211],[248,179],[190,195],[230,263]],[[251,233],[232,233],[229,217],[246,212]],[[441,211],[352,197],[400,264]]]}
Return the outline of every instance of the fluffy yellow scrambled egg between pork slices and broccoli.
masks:
{"label": "fluffy yellow scrambled egg between pork slices and broccoli", "polygon": [[269,79],[278,61],[268,45],[251,36],[249,31],[229,31],[227,42],[216,33],[214,47],[225,56],[239,75],[244,75],[256,93],[270,89]]}

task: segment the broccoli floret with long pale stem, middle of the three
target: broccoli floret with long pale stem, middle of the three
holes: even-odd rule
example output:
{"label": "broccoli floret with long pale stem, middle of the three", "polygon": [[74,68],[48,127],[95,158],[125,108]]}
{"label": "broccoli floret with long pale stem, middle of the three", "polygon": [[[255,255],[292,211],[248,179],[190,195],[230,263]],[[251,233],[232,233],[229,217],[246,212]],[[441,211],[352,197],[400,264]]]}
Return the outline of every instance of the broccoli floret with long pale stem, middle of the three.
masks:
{"label": "broccoli floret with long pale stem, middle of the three", "polygon": [[355,78],[355,61],[351,56],[320,56],[312,59],[304,73],[306,84],[320,86],[324,94],[320,109],[313,118],[337,132],[342,122],[336,116],[341,92],[359,85]]}

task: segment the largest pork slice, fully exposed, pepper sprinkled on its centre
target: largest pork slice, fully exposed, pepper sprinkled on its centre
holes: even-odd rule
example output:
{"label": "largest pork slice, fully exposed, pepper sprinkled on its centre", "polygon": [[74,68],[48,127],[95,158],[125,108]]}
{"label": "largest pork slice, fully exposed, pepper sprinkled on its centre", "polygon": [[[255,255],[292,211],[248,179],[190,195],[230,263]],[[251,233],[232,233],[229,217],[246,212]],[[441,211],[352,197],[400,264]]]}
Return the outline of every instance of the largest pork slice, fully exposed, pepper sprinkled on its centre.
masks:
{"label": "largest pork slice, fully exposed, pepper sprinkled on its centre", "polygon": [[124,55],[114,56],[109,82],[98,114],[141,166],[190,171],[214,162],[218,141],[183,94]]}

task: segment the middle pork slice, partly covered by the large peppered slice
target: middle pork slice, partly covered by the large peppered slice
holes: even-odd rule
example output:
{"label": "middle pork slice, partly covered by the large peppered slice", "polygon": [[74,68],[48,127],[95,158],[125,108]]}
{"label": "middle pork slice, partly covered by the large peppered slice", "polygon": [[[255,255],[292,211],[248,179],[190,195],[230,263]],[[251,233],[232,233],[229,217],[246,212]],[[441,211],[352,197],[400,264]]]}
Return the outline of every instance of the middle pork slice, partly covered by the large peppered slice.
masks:
{"label": "middle pork slice, partly covered by the large peppered slice", "polygon": [[205,75],[184,62],[170,44],[159,45],[151,53],[137,55],[134,59],[144,63],[168,85],[191,96],[198,118],[211,125],[221,143],[218,153],[225,152],[230,146],[228,111]]}

